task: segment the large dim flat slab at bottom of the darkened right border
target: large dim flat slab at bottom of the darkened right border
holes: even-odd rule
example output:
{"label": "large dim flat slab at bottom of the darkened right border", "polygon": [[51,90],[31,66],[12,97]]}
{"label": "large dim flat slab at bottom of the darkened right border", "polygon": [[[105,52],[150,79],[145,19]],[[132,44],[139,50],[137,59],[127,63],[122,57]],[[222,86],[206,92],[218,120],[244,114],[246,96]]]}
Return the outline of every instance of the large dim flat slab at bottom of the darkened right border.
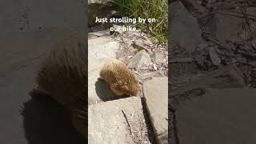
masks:
{"label": "large dim flat slab at bottom of the darkened right border", "polygon": [[255,143],[255,89],[213,89],[175,111],[180,143]]}

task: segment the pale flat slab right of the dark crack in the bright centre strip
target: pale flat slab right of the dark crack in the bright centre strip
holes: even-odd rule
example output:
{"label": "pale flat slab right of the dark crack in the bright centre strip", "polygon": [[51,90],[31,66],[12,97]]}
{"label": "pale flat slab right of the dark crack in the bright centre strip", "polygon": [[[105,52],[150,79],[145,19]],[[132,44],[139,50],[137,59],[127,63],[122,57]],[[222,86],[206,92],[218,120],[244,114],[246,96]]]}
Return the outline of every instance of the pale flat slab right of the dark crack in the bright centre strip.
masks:
{"label": "pale flat slab right of the dark crack in the bright centre strip", "polygon": [[158,77],[143,85],[146,107],[158,143],[168,143],[168,78]]}

